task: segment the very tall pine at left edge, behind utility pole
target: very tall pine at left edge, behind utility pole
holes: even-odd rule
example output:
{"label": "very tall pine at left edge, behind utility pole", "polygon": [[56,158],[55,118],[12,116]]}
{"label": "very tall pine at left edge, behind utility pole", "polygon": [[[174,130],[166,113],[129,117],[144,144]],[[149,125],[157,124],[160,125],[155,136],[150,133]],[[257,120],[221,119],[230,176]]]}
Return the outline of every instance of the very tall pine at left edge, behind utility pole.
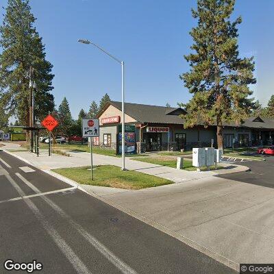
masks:
{"label": "very tall pine at left edge, behind utility pole", "polygon": [[45,118],[54,108],[50,90],[52,65],[46,60],[45,46],[36,28],[29,0],[8,0],[3,25],[0,27],[0,86],[5,88],[1,100],[7,101],[10,112],[21,125],[29,125],[29,71],[36,82],[36,116]]}

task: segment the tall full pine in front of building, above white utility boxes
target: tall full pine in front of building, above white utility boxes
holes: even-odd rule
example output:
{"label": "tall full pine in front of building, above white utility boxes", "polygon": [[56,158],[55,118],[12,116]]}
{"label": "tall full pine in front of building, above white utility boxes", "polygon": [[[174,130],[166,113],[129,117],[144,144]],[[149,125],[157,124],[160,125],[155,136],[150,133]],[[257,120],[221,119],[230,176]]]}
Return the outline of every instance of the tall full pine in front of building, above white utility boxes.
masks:
{"label": "tall full pine in front of building, above white utility boxes", "polygon": [[235,0],[197,0],[192,16],[198,19],[190,35],[192,53],[185,56],[190,72],[182,74],[184,85],[193,94],[186,104],[185,127],[201,121],[217,125],[218,148],[223,149],[223,123],[240,124],[254,108],[249,84],[255,84],[253,58],[240,58],[237,25],[231,22]]}

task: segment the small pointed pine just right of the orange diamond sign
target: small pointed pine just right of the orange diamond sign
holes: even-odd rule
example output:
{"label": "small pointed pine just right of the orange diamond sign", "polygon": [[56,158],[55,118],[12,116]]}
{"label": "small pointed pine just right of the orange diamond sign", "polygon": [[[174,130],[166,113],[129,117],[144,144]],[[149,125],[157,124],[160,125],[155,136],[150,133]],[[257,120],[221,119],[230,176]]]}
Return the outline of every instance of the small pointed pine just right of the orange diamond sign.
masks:
{"label": "small pointed pine just right of the orange diamond sign", "polygon": [[71,126],[73,125],[73,119],[71,116],[71,110],[69,109],[69,102],[64,97],[58,108],[58,132],[64,136],[71,136]]}

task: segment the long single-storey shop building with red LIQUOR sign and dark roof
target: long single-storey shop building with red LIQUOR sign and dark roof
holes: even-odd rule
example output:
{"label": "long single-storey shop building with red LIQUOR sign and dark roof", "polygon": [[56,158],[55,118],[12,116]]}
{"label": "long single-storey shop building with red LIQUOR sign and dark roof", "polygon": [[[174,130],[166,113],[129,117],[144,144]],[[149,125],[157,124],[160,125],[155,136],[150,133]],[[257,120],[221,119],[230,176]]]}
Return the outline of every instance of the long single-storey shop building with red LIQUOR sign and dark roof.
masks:
{"label": "long single-storey shop building with red LIQUOR sign and dark roof", "polygon": [[[156,105],[125,103],[125,132],[127,151],[177,151],[192,147],[216,145],[216,126],[197,125],[184,128],[182,108],[166,108]],[[121,151],[121,102],[110,101],[97,114],[100,123],[99,138],[93,145],[109,147]],[[253,117],[240,126],[223,127],[224,147],[247,147],[272,145],[274,138],[274,119]],[[119,151],[120,150],[120,151]]]}

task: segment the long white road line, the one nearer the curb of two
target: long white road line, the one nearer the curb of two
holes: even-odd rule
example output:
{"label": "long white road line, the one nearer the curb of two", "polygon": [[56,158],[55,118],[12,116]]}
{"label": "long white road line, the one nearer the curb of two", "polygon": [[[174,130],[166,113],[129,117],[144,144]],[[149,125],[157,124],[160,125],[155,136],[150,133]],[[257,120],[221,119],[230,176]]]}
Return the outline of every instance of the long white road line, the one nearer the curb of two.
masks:
{"label": "long white road line, the one nearer the curb of two", "polygon": [[[30,182],[28,182],[27,179],[25,179],[21,174],[16,173],[16,175],[20,179],[22,179],[22,181],[25,182],[25,184],[27,184],[27,186],[32,188],[32,190],[34,190],[37,193],[40,193],[40,190],[38,190],[38,188],[36,188],[36,186],[34,186]],[[66,221],[68,221],[70,223],[70,225],[73,226],[79,234],[81,234],[88,242],[90,242],[90,244],[93,247],[95,247],[95,249],[97,249],[97,251],[99,251],[103,256],[105,256],[105,258],[107,258],[110,262],[112,262],[112,264],[114,264],[117,267],[117,269],[119,269],[122,273],[137,274],[137,272],[134,271],[134,269],[132,269],[129,265],[125,264],[125,262],[123,262],[118,257],[116,257],[114,255],[114,253],[112,253],[112,251],[110,251],[107,247],[105,247],[105,245],[103,245],[101,242],[99,242],[99,240],[97,240],[97,238],[88,234],[88,232],[86,232],[86,230],[81,225],[79,225],[78,223],[75,223],[75,221],[73,221],[71,219],[71,217],[68,214],[66,214],[66,212],[64,212],[53,201],[51,201],[49,198],[47,198],[45,196],[41,196],[41,198],[44,201],[46,201],[49,204],[49,206],[51,206],[51,208],[53,208],[53,210],[58,212],[58,214],[60,214],[60,216],[62,216],[62,218],[66,219]]]}

